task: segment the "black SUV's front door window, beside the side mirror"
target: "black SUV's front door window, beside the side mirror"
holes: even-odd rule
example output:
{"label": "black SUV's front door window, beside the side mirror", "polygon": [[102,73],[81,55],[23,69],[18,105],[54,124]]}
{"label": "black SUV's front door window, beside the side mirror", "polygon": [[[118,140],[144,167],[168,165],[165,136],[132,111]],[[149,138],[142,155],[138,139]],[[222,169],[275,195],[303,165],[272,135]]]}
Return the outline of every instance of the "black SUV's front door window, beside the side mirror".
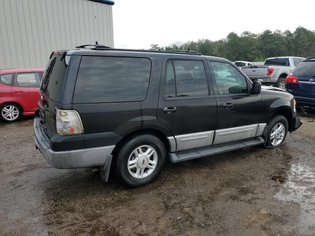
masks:
{"label": "black SUV's front door window, beside the side mirror", "polygon": [[232,65],[224,62],[211,62],[219,94],[248,93],[245,77]]}

